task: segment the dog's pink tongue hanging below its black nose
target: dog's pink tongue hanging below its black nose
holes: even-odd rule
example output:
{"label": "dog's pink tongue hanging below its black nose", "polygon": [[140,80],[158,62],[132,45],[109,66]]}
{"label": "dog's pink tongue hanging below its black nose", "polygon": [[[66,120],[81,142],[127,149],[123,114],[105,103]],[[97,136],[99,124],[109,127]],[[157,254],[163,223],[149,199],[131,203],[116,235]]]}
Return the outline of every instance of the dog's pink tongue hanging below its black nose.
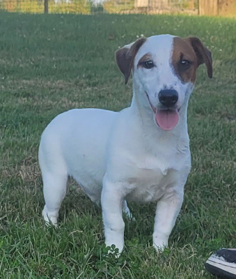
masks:
{"label": "dog's pink tongue hanging below its black nose", "polygon": [[177,110],[157,110],[155,119],[163,130],[172,130],[177,125],[179,116]]}

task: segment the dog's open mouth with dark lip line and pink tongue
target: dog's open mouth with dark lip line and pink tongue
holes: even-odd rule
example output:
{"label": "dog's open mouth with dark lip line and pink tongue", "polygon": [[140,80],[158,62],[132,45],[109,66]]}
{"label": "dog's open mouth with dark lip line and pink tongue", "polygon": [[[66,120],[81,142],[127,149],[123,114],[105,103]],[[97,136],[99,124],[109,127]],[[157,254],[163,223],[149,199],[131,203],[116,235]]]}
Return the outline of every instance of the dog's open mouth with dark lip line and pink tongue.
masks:
{"label": "dog's open mouth with dark lip line and pink tongue", "polygon": [[159,128],[161,128],[162,130],[172,130],[173,128],[175,128],[175,126],[177,125],[178,121],[179,121],[179,114],[178,112],[180,111],[180,109],[178,110],[177,108],[156,108],[152,105],[152,103],[150,102],[150,98],[148,96],[148,93],[145,92],[147,98],[148,98],[148,102],[150,104],[150,107],[152,108],[152,111],[155,114],[155,121],[157,123],[157,125],[159,126]]}

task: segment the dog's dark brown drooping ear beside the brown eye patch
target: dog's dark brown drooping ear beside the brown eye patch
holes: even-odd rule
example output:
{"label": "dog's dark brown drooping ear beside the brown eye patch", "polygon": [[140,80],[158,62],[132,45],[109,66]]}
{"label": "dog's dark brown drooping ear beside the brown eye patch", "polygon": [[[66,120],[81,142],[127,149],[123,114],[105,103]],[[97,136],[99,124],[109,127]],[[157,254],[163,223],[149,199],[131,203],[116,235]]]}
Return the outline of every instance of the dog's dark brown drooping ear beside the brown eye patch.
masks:
{"label": "dog's dark brown drooping ear beside the brown eye patch", "polygon": [[189,43],[194,49],[194,52],[196,53],[197,59],[198,59],[198,66],[200,64],[205,63],[205,66],[207,66],[207,75],[208,77],[212,78],[212,53],[210,50],[207,49],[203,45],[203,43],[196,37],[189,37],[187,38]]}

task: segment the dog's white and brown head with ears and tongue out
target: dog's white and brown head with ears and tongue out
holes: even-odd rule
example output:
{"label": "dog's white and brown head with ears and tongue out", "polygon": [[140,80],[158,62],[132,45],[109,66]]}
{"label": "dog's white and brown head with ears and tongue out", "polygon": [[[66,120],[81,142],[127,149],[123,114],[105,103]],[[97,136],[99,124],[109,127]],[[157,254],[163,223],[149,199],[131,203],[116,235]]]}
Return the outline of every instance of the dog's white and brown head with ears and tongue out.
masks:
{"label": "dog's white and brown head with ears and tongue out", "polygon": [[153,111],[157,125],[173,129],[196,80],[196,70],[205,63],[212,77],[212,54],[198,38],[171,35],[140,38],[116,52],[116,63],[125,76],[132,71],[134,87]]}

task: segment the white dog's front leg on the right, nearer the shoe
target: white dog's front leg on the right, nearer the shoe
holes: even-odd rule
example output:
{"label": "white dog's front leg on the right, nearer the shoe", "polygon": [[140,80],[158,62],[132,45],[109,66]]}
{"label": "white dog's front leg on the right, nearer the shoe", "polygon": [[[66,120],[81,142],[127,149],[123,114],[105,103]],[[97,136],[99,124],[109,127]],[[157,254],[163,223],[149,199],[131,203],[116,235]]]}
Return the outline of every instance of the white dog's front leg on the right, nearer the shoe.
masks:
{"label": "white dog's front leg on the right, nearer the shoe", "polygon": [[183,193],[173,192],[172,195],[163,197],[157,202],[154,232],[152,235],[153,246],[157,250],[164,250],[168,246],[168,237],[175,225],[183,202]]}

